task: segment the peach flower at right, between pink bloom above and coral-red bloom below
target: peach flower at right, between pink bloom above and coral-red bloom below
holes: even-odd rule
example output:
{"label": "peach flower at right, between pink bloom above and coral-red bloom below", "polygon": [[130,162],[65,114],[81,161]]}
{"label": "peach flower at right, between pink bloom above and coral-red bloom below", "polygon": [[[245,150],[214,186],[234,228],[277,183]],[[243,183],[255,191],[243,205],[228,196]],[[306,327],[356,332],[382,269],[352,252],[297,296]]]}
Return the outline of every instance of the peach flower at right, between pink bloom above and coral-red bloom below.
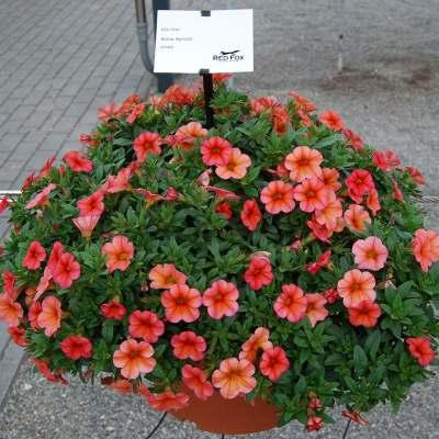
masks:
{"label": "peach flower at right, between pink bloom above and coral-red bloom below", "polygon": [[362,301],[374,301],[376,297],[374,288],[375,278],[370,272],[354,269],[347,271],[338,281],[337,292],[342,297],[344,305],[351,307]]}

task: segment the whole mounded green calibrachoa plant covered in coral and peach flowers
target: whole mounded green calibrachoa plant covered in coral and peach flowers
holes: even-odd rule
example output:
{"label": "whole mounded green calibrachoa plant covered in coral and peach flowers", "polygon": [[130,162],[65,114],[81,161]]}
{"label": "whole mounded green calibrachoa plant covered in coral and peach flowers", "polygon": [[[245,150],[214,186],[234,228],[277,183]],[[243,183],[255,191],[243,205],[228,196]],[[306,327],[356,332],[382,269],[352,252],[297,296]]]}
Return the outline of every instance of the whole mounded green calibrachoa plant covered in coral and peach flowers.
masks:
{"label": "whole mounded green calibrachoa plant covered in coral and peach flowers", "polygon": [[159,410],[217,391],[318,430],[335,404],[362,424],[397,408],[439,335],[423,176],[293,91],[223,80],[214,128],[196,87],[132,95],[26,179],[0,318],[49,381],[99,376]]}

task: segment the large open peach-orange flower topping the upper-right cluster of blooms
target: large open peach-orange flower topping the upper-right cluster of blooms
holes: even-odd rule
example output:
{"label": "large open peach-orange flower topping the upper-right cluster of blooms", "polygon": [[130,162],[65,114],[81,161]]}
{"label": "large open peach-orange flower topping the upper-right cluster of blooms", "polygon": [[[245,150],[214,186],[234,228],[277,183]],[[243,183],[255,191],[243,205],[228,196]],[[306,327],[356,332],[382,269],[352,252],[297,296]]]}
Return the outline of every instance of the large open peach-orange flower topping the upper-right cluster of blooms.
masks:
{"label": "large open peach-orange flower topping the upper-right cluster of blooms", "polygon": [[322,153],[307,146],[297,146],[285,157],[285,168],[290,171],[293,181],[303,181],[307,178],[322,176]]}

